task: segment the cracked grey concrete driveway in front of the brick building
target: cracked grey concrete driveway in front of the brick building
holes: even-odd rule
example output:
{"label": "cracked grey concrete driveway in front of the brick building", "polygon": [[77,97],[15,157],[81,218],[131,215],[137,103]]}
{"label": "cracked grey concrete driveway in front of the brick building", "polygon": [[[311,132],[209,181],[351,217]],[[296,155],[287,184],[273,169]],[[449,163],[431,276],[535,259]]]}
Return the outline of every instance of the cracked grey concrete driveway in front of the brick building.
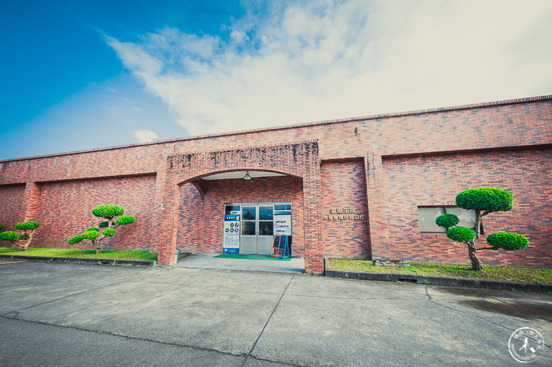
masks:
{"label": "cracked grey concrete driveway in front of the brick building", "polygon": [[551,366],[552,295],[0,262],[0,366],[526,366],[522,327]]}

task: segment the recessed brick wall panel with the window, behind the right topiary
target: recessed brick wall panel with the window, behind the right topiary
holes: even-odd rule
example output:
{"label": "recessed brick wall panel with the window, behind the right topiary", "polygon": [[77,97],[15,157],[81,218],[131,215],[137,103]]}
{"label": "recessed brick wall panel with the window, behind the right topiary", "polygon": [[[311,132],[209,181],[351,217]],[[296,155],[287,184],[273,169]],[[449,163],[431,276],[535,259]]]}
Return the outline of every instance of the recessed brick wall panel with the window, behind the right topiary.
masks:
{"label": "recessed brick wall panel with the window, behind the right topiary", "polygon": [[[446,235],[421,234],[417,206],[455,205],[457,193],[491,186],[514,197],[513,210],[483,218],[486,234],[526,235],[520,251],[479,251],[488,265],[552,267],[552,149],[384,159],[391,258],[466,264],[466,246]],[[482,236],[477,247],[486,247]]]}

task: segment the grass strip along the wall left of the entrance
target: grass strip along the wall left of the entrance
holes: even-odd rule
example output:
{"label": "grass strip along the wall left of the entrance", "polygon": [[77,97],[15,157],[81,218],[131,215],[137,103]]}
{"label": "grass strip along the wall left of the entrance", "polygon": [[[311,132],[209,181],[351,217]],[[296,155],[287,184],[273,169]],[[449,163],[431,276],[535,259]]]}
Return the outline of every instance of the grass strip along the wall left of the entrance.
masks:
{"label": "grass strip along the wall left of the entrance", "polygon": [[99,255],[96,255],[96,250],[85,249],[47,249],[41,247],[30,247],[27,251],[19,251],[17,247],[0,247],[0,255],[157,261],[157,253],[148,251],[101,251]]}

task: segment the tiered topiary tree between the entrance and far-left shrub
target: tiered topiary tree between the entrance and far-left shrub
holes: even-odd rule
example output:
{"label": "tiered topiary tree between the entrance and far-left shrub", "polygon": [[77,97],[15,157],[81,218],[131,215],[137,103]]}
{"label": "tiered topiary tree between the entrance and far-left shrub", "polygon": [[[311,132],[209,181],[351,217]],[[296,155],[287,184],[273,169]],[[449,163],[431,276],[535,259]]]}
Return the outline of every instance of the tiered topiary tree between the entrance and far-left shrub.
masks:
{"label": "tiered topiary tree between the entrance and far-left shrub", "polygon": [[89,228],[83,234],[75,235],[75,237],[69,240],[69,244],[73,245],[88,240],[92,244],[92,247],[96,249],[96,253],[101,253],[101,240],[115,235],[117,233],[115,227],[136,221],[136,218],[133,216],[123,216],[124,212],[124,209],[117,207],[117,205],[100,205],[99,207],[95,207],[92,209],[92,214],[106,219],[106,221],[100,222],[99,228]]}

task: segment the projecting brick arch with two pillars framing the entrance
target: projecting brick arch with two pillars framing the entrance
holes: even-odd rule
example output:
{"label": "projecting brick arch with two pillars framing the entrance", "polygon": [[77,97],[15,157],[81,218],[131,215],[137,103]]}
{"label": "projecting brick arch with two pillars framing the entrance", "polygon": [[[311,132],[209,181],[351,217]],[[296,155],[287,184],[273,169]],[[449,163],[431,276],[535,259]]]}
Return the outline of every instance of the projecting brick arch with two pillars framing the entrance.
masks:
{"label": "projecting brick arch with two pillars framing the entrance", "polygon": [[197,151],[167,157],[159,264],[174,264],[181,185],[228,171],[272,171],[302,178],[305,271],[322,273],[320,233],[320,161],[317,140],[221,151]]}

